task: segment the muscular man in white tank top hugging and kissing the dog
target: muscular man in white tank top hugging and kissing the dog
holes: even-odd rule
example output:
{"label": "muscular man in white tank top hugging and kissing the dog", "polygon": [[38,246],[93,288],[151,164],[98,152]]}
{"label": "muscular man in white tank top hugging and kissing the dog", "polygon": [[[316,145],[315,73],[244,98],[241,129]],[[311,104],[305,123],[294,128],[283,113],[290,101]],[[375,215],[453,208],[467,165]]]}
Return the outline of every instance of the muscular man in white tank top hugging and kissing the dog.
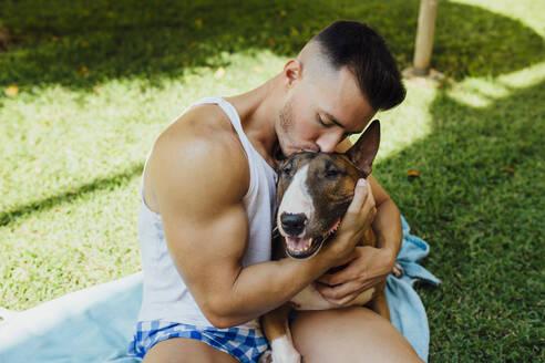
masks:
{"label": "muscular man in white tank top hugging and kissing the dog", "polygon": [[[267,346],[257,319],[307,284],[320,279],[323,297],[342,304],[382,281],[402,232],[398,208],[372,176],[356,187],[336,242],[312,259],[270,261],[274,169],[279,156],[336,151],[404,95],[382,39],[339,21],[261,86],[202,100],[179,116],[144,169],[134,352],[144,362],[256,362]],[[354,247],[371,222],[379,248]],[[298,313],[292,334],[306,362],[419,361],[390,322],[364,308]]]}

